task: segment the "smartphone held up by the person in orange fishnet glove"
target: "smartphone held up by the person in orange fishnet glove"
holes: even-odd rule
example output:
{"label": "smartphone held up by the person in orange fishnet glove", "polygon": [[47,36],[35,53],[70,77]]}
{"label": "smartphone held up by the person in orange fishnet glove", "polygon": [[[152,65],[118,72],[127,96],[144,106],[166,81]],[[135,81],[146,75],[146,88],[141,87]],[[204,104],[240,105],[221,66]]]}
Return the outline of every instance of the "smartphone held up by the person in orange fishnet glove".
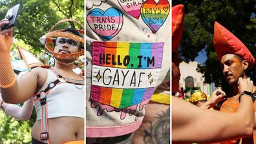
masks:
{"label": "smartphone held up by the person in orange fishnet glove", "polygon": [[5,15],[5,19],[9,19],[10,23],[3,26],[1,30],[7,30],[15,25],[20,7],[21,7],[21,4],[19,3],[8,10],[8,12]]}

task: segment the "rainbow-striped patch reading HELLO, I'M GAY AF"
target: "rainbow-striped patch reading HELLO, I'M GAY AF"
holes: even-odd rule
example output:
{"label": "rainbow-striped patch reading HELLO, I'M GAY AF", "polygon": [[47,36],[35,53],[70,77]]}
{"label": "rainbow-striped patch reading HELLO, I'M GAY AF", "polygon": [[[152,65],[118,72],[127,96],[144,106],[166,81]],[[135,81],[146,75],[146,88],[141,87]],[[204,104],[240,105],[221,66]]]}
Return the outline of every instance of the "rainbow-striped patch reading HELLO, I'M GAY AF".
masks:
{"label": "rainbow-striped patch reading HELLO, I'M GAY AF", "polygon": [[126,108],[151,98],[164,43],[92,42],[91,99]]}

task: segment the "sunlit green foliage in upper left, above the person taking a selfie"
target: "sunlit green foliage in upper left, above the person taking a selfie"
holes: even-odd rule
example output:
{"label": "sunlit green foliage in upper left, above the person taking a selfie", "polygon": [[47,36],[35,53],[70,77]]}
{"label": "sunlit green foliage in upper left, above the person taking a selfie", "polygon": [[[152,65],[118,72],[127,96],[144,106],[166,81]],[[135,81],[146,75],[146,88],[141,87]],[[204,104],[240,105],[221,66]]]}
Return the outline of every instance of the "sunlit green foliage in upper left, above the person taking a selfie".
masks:
{"label": "sunlit green foliage in upper left, above the person taking a selfie", "polygon": [[6,0],[0,1],[0,17],[4,18],[11,6],[21,3],[14,28],[14,37],[30,45],[30,52],[40,54],[44,46],[38,39],[61,19],[76,19],[84,23],[82,0]]}

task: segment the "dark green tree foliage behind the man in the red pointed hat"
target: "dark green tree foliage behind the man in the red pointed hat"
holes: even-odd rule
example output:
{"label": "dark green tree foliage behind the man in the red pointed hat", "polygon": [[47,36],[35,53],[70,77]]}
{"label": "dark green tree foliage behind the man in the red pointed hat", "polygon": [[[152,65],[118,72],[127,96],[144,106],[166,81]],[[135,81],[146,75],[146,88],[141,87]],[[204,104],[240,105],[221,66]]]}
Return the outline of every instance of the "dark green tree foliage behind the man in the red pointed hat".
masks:
{"label": "dark green tree foliage behind the man in the red pointed hat", "polygon": [[[198,52],[206,50],[207,60],[198,65],[198,72],[205,77],[206,83],[214,82],[228,90],[228,86],[213,46],[214,22],[218,21],[237,36],[256,57],[256,19],[255,0],[192,0],[173,1],[173,6],[185,6],[184,34],[179,47],[182,61],[194,61]],[[256,83],[256,69],[250,70]]]}

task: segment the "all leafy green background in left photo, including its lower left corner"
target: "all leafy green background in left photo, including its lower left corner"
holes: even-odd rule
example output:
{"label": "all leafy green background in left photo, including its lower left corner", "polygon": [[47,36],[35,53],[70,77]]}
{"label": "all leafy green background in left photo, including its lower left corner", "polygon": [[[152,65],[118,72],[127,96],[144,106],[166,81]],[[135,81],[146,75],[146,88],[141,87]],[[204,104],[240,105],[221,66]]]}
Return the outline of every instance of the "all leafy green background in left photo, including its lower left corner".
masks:
{"label": "all leafy green background in left photo, including its lower left corner", "polygon": [[[20,45],[42,60],[44,45],[38,39],[47,34],[52,26],[61,19],[69,18],[80,21],[82,25],[84,23],[83,0],[2,0],[0,19],[5,17],[8,8],[17,3],[21,3],[21,9],[14,27],[12,59],[17,59],[17,45]],[[36,112],[33,112],[29,121],[10,118],[3,110],[0,114],[0,144],[30,143],[30,130],[36,121]]]}

